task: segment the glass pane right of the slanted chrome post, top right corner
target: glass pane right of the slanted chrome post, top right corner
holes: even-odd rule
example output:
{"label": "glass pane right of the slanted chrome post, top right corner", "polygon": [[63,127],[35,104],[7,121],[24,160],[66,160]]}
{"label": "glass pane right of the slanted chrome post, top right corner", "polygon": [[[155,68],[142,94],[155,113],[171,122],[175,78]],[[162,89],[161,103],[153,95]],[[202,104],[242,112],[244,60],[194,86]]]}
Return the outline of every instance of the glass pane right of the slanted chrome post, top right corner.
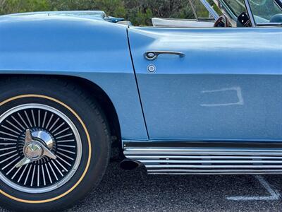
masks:
{"label": "glass pane right of the slanted chrome post, top right corner", "polygon": [[273,0],[250,0],[256,23],[282,23],[282,10]]}

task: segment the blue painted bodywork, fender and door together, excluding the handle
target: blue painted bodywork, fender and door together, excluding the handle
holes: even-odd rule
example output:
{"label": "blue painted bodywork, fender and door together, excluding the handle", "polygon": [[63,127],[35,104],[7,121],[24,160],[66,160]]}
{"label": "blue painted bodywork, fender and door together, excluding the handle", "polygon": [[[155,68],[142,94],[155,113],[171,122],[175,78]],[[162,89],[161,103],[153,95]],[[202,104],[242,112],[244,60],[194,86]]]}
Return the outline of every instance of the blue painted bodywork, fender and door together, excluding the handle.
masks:
{"label": "blue painted bodywork, fender and door together, excluding the handle", "polygon": [[[0,16],[0,74],[96,83],[127,141],[282,141],[281,28],[128,29],[101,14],[48,13]],[[185,57],[143,56],[160,50]]]}

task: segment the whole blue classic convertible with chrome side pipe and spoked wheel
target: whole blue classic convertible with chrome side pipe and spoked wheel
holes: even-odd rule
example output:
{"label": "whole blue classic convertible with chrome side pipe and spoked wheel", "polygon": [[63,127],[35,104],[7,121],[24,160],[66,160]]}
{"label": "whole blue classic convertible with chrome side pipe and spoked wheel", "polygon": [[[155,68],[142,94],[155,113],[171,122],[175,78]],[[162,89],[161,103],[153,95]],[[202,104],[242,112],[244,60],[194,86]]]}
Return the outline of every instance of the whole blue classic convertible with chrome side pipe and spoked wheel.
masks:
{"label": "whole blue classic convertible with chrome side pipe and spoked wheel", "polygon": [[[0,17],[0,202],[54,210],[111,146],[149,174],[282,174],[282,2],[191,0],[193,20]],[[195,4],[208,17],[197,15]]]}

